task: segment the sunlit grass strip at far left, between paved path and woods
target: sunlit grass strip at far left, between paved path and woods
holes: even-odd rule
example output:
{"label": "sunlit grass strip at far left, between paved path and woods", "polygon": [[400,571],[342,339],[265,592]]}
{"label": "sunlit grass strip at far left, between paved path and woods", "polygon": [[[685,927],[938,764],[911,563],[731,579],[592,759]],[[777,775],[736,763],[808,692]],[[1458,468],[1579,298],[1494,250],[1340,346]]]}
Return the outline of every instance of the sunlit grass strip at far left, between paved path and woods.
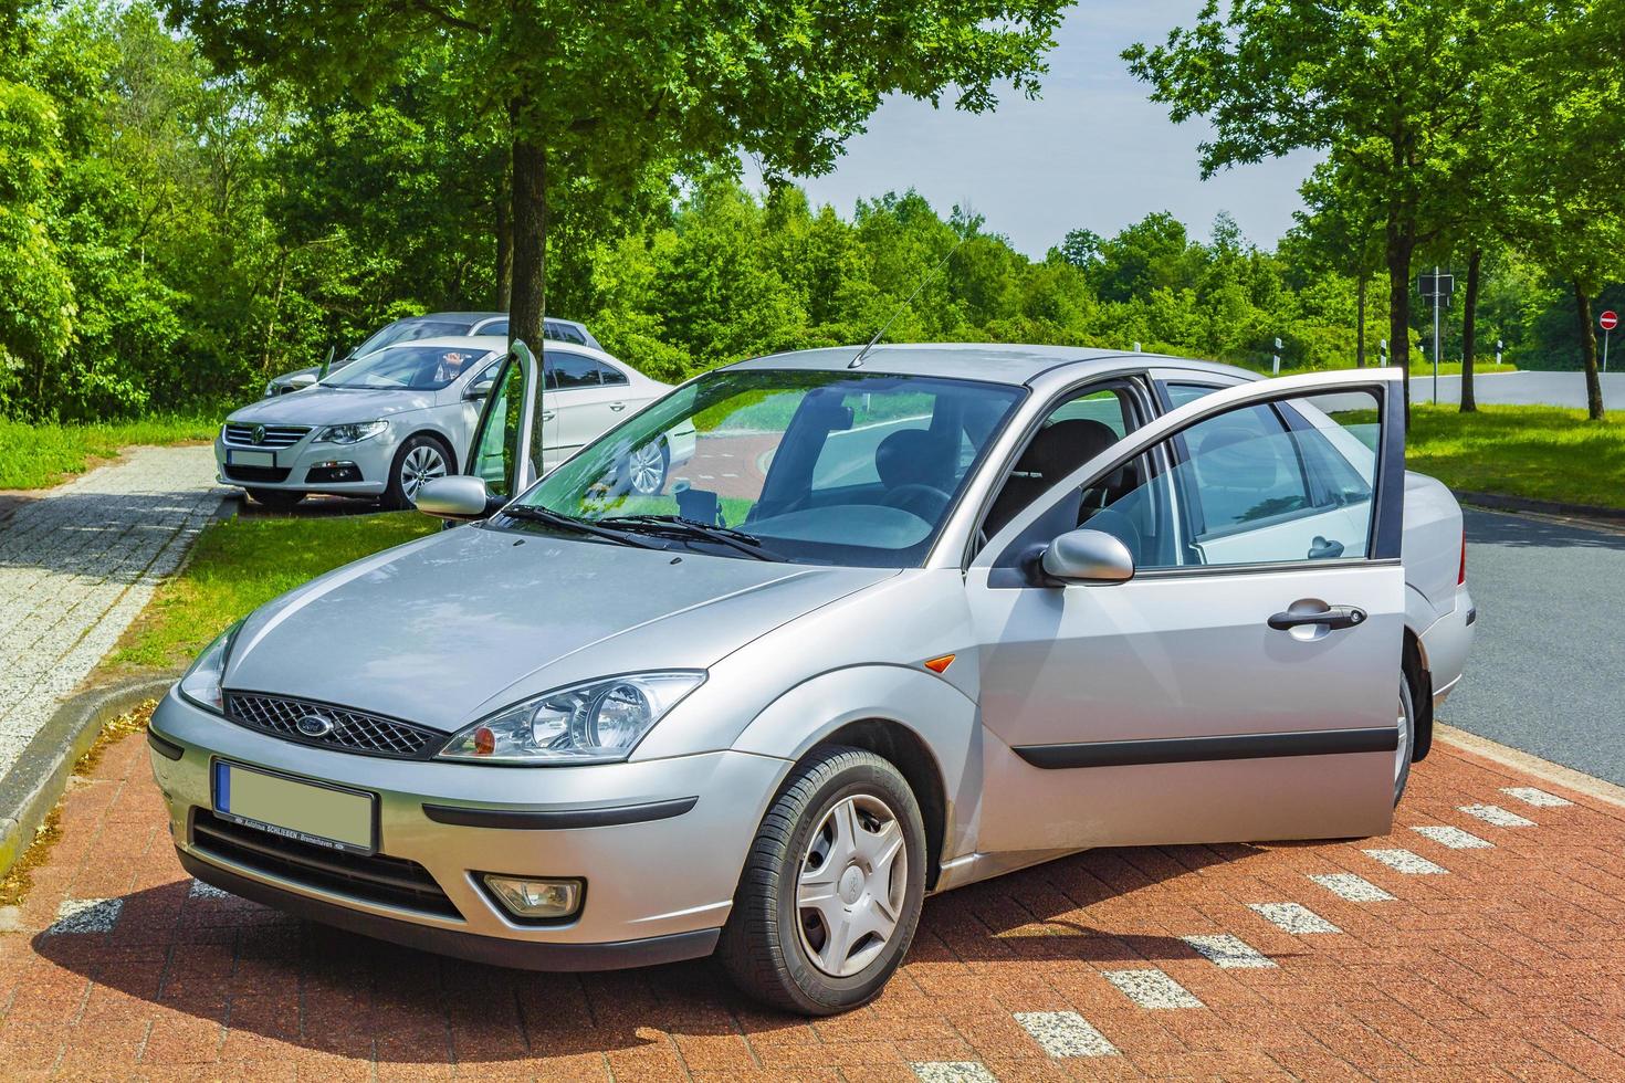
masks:
{"label": "sunlit grass strip at far left, between paved path and woods", "polygon": [[28,424],[0,417],[0,489],[49,489],[83,474],[119,448],[213,440],[218,417],[148,417],[89,425]]}

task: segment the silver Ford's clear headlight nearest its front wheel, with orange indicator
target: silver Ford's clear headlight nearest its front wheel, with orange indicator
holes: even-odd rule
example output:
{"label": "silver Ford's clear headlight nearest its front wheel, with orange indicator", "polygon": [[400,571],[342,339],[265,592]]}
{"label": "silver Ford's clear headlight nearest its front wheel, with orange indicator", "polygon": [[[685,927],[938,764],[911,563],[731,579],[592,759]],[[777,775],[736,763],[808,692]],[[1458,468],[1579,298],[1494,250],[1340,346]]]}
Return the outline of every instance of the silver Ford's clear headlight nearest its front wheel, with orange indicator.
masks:
{"label": "silver Ford's clear headlight nearest its front wheel, with orange indicator", "polygon": [[518,766],[616,763],[704,682],[704,672],[686,669],[546,692],[479,719],[452,737],[437,758]]}

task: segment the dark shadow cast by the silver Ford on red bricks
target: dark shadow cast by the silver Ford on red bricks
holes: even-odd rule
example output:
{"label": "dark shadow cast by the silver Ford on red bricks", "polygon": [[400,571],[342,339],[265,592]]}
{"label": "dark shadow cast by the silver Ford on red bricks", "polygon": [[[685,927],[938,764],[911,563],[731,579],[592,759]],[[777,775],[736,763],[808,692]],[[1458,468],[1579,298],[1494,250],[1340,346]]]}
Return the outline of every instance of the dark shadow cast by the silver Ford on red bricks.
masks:
{"label": "dark shadow cast by the silver Ford on red bricks", "polygon": [[[967,984],[985,989],[1011,973],[990,969],[996,963],[1198,961],[1176,937],[1105,934],[1081,921],[1082,911],[1133,913],[1144,904],[1136,891],[1258,852],[1090,851],[928,900],[904,971],[866,1012],[908,1015],[933,997],[964,995]],[[296,1046],[380,1065],[546,1059],[562,1068],[577,1054],[656,1054],[668,1041],[658,1031],[679,1044],[812,1036],[808,1020],[744,999],[712,960],[587,974],[504,969],[301,922],[236,896],[197,896],[188,885],[124,896],[109,934],[46,932],[32,947],[117,994],[228,1026],[223,1057],[236,1042],[237,1055],[255,1059]],[[821,1028],[860,1025],[847,1016]]]}

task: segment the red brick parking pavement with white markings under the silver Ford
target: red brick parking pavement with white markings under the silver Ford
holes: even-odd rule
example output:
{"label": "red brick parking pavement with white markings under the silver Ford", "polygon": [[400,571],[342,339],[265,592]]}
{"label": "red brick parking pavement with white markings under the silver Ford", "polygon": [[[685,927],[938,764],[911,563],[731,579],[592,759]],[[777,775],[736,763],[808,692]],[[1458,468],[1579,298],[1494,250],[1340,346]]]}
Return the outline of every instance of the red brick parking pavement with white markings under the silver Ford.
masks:
{"label": "red brick parking pavement with white markings under the silver Ford", "polygon": [[822,1021],[710,963],[549,976],[302,926],[185,878],[140,737],[68,794],[0,935],[0,1075],[1625,1078],[1625,809],[1451,745],[1394,831],[1095,851],[926,903]]}

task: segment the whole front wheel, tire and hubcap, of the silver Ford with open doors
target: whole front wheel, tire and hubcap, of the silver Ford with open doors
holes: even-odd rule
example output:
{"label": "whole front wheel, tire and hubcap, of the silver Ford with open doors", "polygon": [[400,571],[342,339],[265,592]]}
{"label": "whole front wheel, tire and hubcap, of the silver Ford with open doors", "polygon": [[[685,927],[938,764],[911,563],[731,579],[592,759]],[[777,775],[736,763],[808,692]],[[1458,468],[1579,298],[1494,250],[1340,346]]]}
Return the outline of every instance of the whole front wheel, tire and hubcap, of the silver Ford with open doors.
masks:
{"label": "whole front wheel, tire and hubcap, of the silver Ford with open doors", "polygon": [[[718,942],[723,966],[785,1012],[868,1003],[913,942],[925,859],[920,804],[897,768],[863,749],[816,750],[762,817]],[[824,914],[840,922],[838,938]]]}

